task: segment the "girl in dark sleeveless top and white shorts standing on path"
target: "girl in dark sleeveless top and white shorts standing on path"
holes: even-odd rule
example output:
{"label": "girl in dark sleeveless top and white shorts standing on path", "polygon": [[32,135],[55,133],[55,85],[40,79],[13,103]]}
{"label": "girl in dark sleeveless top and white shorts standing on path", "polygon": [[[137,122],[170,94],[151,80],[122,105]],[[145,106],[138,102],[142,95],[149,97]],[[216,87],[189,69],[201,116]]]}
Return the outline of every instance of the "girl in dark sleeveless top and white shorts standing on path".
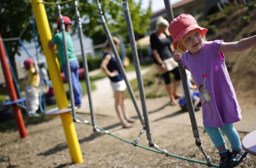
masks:
{"label": "girl in dark sleeveless top and white shorts standing on path", "polygon": [[[120,40],[117,37],[113,37],[114,44],[116,48],[119,48]],[[128,113],[124,107],[124,91],[126,90],[126,84],[122,78],[122,74],[117,66],[116,59],[114,58],[114,54],[110,48],[110,43],[106,42],[106,53],[104,54],[104,59],[101,63],[100,68],[110,79],[111,87],[114,91],[115,97],[115,109],[122,123],[123,128],[130,128],[132,125],[130,123],[134,123],[135,120],[128,116]]]}

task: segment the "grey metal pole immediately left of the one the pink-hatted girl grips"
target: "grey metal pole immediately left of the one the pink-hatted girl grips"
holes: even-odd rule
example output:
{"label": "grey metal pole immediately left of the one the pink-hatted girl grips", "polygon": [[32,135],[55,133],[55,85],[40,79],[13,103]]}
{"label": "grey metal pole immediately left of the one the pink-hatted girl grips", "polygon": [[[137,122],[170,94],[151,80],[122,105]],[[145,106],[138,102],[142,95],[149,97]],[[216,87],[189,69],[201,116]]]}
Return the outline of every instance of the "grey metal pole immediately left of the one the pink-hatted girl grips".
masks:
{"label": "grey metal pole immediately left of the one the pink-hatted girl grips", "polygon": [[137,47],[136,47],[136,43],[135,43],[134,31],[133,31],[133,27],[132,27],[132,20],[131,20],[127,0],[123,0],[123,8],[124,8],[124,16],[125,16],[125,19],[126,19],[126,26],[127,26],[128,34],[129,34],[130,45],[131,45],[131,48],[132,48],[132,58],[133,58],[133,61],[134,61],[134,66],[135,66],[135,71],[136,71],[136,76],[137,76],[137,82],[138,82],[138,88],[139,88],[139,92],[140,92],[140,101],[141,101],[141,105],[142,105],[142,111],[143,111],[144,122],[145,122],[145,127],[146,127],[147,139],[149,141],[152,141],[152,133],[151,133],[151,130],[150,130],[150,124],[149,124],[149,119],[148,119],[148,110],[147,110],[147,107],[146,107],[146,98],[145,98],[145,93],[144,93],[142,77],[141,77],[141,73],[140,73],[140,61],[139,61]]}

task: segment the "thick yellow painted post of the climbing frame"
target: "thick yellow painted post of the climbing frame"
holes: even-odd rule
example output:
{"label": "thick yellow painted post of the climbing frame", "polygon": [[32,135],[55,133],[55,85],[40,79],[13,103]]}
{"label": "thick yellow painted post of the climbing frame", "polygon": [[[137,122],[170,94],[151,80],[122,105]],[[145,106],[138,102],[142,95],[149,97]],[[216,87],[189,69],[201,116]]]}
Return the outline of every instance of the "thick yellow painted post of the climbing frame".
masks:
{"label": "thick yellow painted post of the climbing frame", "polygon": [[[50,25],[46,15],[44,4],[38,3],[43,2],[42,0],[31,0],[34,16],[36,20],[36,26],[40,36],[40,41],[48,64],[50,78],[55,92],[56,102],[59,109],[68,107],[68,99],[66,92],[62,84],[62,78],[60,76],[60,65],[58,58],[54,51],[48,47],[49,41],[52,39],[52,33]],[[83,157],[79,146],[78,137],[76,135],[76,129],[72,121],[70,113],[60,114],[62,126],[66,135],[68,148],[70,151],[72,162],[82,163]]]}

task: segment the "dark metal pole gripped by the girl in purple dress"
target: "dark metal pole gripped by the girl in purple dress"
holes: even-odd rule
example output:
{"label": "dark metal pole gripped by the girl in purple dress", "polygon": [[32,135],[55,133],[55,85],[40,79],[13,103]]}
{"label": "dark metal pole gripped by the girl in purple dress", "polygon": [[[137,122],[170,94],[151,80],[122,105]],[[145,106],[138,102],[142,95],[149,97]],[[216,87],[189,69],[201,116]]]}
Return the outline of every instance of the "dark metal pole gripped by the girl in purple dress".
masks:
{"label": "dark metal pole gripped by the girl in purple dress", "polygon": [[[164,0],[164,5],[165,5],[165,8],[166,8],[168,20],[169,20],[169,22],[171,22],[172,20],[174,20],[174,15],[173,15],[170,0]],[[182,81],[184,94],[185,94],[185,98],[186,98],[186,102],[187,102],[188,113],[189,113],[190,122],[191,122],[191,125],[192,125],[193,135],[194,135],[194,138],[196,138],[196,145],[198,146],[200,151],[204,154],[204,157],[206,158],[207,166],[210,167],[211,166],[210,164],[212,163],[212,161],[210,159],[210,156],[208,156],[206,154],[206,152],[204,151],[204,147],[203,147],[203,145],[201,143],[201,140],[200,140],[200,133],[199,133],[198,125],[197,125],[197,122],[196,122],[195,110],[194,110],[192,98],[190,96],[186,71],[185,71],[185,68],[180,63],[180,61],[178,61],[178,67],[179,67],[179,70],[180,70],[180,76],[181,76],[181,81]]]}

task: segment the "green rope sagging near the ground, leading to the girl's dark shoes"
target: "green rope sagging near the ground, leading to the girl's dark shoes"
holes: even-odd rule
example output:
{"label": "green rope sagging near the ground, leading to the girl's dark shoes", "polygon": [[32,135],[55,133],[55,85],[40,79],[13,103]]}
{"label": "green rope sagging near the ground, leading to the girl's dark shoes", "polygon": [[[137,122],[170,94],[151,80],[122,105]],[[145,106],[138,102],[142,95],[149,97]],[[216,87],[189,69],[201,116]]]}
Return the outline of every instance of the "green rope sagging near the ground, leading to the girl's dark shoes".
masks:
{"label": "green rope sagging near the ground, leading to the girl's dark shoes", "polygon": [[[83,120],[83,121],[84,121],[84,119],[83,119],[82,117],[79,117],[79,116],[76,116],[76,117],[77,117],[78,119],[81,119],[81,120]],[[87,124],[87,125],[92,125],[89,121],[88,121],[88,122],[86,122],[85,124]],[[114,134],[112,134],[112,133],[108,132],[108,131],[107,131],[107,130],[105,130],[105,129],[102,129],[102,128],[97,127],[97,126],[96,126],[96,128],[100,129],[100,131],[105,131],[105,132],[106,132],[106,134],[108,134],[108,135],[110,135],[110,136],[112,136],[112,137],[115,137],[116,139],[119,139],[119,140],[124,141],[124,142],[126,142],[126,143],[129,143],[129,144],[135,145],[136,147],[140,147],[140,148],[143,148],[143,149],[146,149],[146,150],[152,151],[152,152],[156,152],[156,153],[159,153],[159,154],[163,154],[160,150],[156,150],[156,149],[152,149],[152,148],[144,147],[144,146],[139,145],[139,144],[134,144],[132,141],[128,141],[128,140],[126,140],[126,139],[123,139],[122,137],[119,137],[119,136],[117,136],[117,135],[114,135]],[[173,158],[182,159],[182,160],[186,160],[186,161],[189,161],[189,162],[194,162],[194,163],[198,163],[198,164],[204,164],[204,165],[207,165],[207,163],[206,163],[206,162],[203,162],[203,161],[194,160],[194,159],[190,159],[190,158],[186,158],[186,157],[183,157],[183,156],[178,156],[178,155],[174,155],[174,154],[170,154],[170,153],[168,153],[168,154],[167,154],[167,156],[170,156],[170,157],[173,157]],[[216,167],[216,168],[218,168],[218,167],[219,167],[219,165],[217,165],[217,164],[213,164],[213,163],[210,163],[210,165],[211,165],[211,166],[213,166],[213,167]]]}

